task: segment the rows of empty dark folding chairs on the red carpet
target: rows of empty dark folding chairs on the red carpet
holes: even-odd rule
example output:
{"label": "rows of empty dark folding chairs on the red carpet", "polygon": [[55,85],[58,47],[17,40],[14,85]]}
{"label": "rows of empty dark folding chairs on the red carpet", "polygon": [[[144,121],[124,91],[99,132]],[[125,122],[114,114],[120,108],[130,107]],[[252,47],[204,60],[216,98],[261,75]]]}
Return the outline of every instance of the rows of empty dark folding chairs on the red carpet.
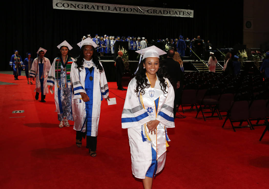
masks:
{"label": "rows of empty dark folding chairs on the red carpet", "polygon": [[[187,110],[197,110],[196,117],[201,112],[204,121],[207,117],[215,117],[215,112],[221,120],[220,112],[226,112],[222,127],[229,119],[234,131],[235,128],[243,128],[241,125],[244,121],[252,130],[253,126],[259,125],[260,120],[264,120],[264,124],[260,124],[266,126],[264,135],[269,129],[268,99],[269,79],[264,79],[261,74],[246,73],[233,76],[214,72],[185,72],[185,86],[180,105],[183,113],[184,106],[190,106]],[[210,111],[204,112],[204,109]],[[211,113],[211,116],[205,117],[204,113]],[[253,120],[257,120],[256,124],[251,122]],[[239,127],[233,126],[233,122],[240,122]]]}

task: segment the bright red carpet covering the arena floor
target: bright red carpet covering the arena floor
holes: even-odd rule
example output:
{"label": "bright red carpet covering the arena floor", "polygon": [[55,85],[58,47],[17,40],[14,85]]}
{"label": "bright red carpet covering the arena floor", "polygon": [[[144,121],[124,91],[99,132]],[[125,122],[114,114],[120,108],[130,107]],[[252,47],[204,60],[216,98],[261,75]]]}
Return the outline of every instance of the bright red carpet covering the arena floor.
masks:
{"label": "bright red carpet covering the arena floor", "polygon": [[[117,104],[101,105],[93,158],[86,140],[76,147],[73,122],[58,127],[54,96],[46,95],[46,103],[36,101],[35,82],[19,79],[0,74],[0,81],[15,83],[0,85],[0,188],[143,188],[132,176],[127,129],[121,129],[124,100],[119,97],[126,92],[116,90],[116,83],[108,86],[110,98],[119,96]],[[224,120],[205,122],[194,111],[184,115],[175,120],[176,128],[168,129],[166,165],[153,188],[269,188],[269,133],[259,141],[264,126],[233,132],[229,122],[221,128]]]}

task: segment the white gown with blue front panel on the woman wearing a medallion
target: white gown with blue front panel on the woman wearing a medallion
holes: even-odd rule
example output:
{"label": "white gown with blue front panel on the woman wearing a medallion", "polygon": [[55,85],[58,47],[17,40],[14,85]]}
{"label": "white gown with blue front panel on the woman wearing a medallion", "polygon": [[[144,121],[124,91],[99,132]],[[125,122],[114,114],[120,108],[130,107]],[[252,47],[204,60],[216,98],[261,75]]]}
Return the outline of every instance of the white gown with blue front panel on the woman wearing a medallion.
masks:
{"label": "white gown with blue front panel on the woman wearing a medallion", "polygon": [[[101,64],[101,62],[100,62]],[[94,65],[93,61],[87,61],[84,59],[83,67],[80,72],[75,68],[76,63],[73,62],[71,66],[70,79],[73,88],[72,94],[72,112],[74,119],[74,129],[76,131],[86,132],[87,124],[87,134],[88,136],[98,135],[98,123],[100,117],[100,108],[102,98],[108,97],[108,84],[105,77],[105,72],[99,72],[99,70]],[[102,66],[102,64],[101,64]],[[93,67],[91,75],[93,75],[92,83],[92,94],[87,94],[88,87],[85,88],[85,83],[89,82],[89,77],[86,78],[86,68]],[[91,102],[91,105],[86,106],[86,103],[81,99],[80,92],[86,93]],[[88,108],[87,108],[88,107]],[[88,112],[88,114],[87,114]]]}

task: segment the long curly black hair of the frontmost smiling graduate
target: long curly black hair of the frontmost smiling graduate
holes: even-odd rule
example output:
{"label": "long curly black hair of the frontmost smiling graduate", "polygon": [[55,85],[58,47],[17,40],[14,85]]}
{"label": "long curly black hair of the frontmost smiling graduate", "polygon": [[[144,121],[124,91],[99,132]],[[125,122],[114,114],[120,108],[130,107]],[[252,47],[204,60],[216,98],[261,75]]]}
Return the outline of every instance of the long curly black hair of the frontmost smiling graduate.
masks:
{"label": "long curly black hair of the frontmost smiling graduate", "polygon": [[[141,93],[141,95],[145,94],[145,88],[149,88],[150,85],[147,83],[148,79],[146,76],[146,69],[144,69],[143,67],[143,63],[145,63],[147,58],[145,58],[143,61],[140,62],[138,70],[136,72],[135,75],[135,79],[136,79],[136,89],[134,90],[134,92],[136,92],[137,97],[139,97],[139,93]],[[164,65],[162,63],[160,63],[159,66],[159,70],[157,71],[157,77],[160,81],[160,86],[161,86],[161,90],[162,92],[164,92],[164,94],[167,94],[168,91],[166,91],[167,89],[167,82],[164,80],[164,77],[168,78],[167,73],[164,70]],[[170,86],[169,86],[170,87]]]}

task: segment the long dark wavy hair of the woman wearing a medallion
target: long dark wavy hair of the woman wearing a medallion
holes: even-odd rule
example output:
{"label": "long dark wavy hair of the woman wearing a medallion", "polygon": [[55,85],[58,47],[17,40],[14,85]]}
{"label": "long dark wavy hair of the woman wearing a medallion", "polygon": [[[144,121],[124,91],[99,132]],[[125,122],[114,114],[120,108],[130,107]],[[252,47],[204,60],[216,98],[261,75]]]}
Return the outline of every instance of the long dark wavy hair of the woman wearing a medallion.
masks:
{"label": "long dark wavy hair of the woman wearing a medallion", "polygon": [[[79,57],[75,61],[75,63],[76,63],[76,67],[75,68],[77,68],[79,70],[79,72],[81,71],[81,69],[84,69],[84,67],[83,67],[83,62],[84,62],[84,60],[83,60],[83,57],[84,57],[83,50],[84,50],[84,47],[85,47],[85,45],[83,45],[80,48]],[[93,47],[93,56],[91,58],[93,59],[93,63],[97,67],[97,69],[99,70],[99,72],[100,73],[103,72],[104,69],[103,69],[103,67],[101,66],[101,64],[100,64],[100,62],[98,60],[97,52],[94,49],[94,47]]]}

